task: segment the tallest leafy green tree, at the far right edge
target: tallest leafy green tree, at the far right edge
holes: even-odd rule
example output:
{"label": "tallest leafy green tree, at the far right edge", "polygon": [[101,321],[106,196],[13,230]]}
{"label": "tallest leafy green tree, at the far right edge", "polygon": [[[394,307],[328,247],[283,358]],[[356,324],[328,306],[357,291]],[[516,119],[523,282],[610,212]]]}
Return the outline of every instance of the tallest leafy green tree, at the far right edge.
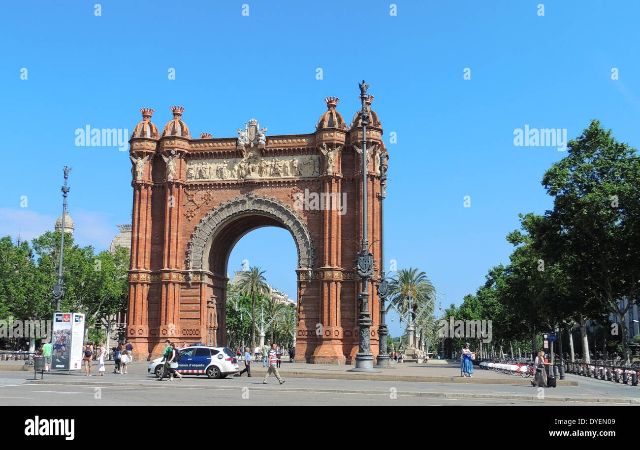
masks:
{"label": "tallest leafy green tree, at the far right edge", "polygon": [[568,142],[567,156],[547,170],[542,184],[554,197],[554,209],[545,215],[555,230],[564,272],[618,316],[628,360],[623,317],[638,301],[640,280],[636,149],[614,139],[599,121],[591,121],[578,139]]}

